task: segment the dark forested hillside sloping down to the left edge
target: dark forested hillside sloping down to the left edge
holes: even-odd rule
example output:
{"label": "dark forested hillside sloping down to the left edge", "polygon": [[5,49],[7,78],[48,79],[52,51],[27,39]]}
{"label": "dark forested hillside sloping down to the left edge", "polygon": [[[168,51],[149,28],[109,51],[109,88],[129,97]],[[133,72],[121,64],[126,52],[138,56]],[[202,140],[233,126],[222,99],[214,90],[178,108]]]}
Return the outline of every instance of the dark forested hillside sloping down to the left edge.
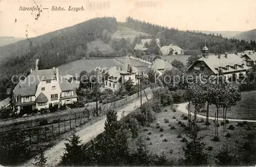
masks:
{"label": "dark forested hillside sloping down to the left edge", "polygon": [[[59,66],[86,55],[87,43],[102,32],[117,31],[115,17],[93,18],[72,27],[0,47],[0,95],[13,87],[12,75],[29,74],[38,58],[39,69]],[[1,99],[1,97],[0,97]]]}

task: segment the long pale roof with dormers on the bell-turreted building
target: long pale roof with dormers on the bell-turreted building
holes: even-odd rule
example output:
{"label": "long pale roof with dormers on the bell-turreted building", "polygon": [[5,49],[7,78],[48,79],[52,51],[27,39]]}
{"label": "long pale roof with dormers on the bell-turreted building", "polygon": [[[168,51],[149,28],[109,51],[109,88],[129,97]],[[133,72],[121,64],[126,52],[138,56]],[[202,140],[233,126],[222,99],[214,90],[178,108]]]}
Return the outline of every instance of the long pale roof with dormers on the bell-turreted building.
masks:
{"label": "long pale roof with dormers on the bell-turreted building", "polygon": [[[249,69],[245,65],[245,61],[243,59],[241,59],[239,56],[235,55],[235,54],[228,54],[227,58],[225,57],[225,55],[220,55],[220,56],[221,56],[221,58],[219,58],[218,56],[215,56],[215,55],[208,56],[208,58],[201,57],[197,61],[205,62],[205,64],[215,74],[219,73],[218,72],[219,67],[225,68],[226,66],[230,66],[230,68],[228,70],[223,69],[223,71],[222,71],[223,73],[228,73],[228,72],[232,72],[232,71],[240,71],[242,69]],[[242,64],[244,65],[244,68],[241,68],[241,67],[237,67],[237,69],[232,68],[234,65],[240,65],[241,66]],[[188,68],[190,68],[193,65],[194,64],[190,65]]]}

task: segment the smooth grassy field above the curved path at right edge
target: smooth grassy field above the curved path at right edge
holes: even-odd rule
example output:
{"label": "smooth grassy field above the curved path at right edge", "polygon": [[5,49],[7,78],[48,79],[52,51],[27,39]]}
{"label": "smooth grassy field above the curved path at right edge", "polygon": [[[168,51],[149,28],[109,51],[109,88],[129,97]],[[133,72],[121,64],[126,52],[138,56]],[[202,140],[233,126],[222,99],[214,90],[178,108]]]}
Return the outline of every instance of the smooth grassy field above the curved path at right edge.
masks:
{"label": "smooth grassy field above the curved path at right edge", "polygon": [[[205,107],[206,108],[206,107]],[[192,111],[194,107],[191,107]],[[217,111],[214,105],[209,106],[209,116],[214,117]],[[205,112],[200,113],[206,115]],[[223,117],[223,109],[219,110],[219,117]],[[227,118],[241,120],[256,120],[256,91],[243,92],[242,100],[227,110]]]}

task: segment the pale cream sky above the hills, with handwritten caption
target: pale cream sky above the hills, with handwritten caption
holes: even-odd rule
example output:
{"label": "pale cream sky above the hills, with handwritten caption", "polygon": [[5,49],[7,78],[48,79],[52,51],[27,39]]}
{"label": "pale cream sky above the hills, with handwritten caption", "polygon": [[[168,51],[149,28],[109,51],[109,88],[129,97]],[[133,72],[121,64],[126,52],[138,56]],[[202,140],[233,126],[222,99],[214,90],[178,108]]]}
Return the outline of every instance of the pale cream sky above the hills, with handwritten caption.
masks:
{"label": "pale cream sky above the hills, with handwritten caption", "polygon": [[[99,7],[89,10],[89,3]],[[109,6],[102,9],[108,3]],[[37,20],[38,11],[19,10],[33,6],[48,9],[42,9]],[[65,11],[52,11],[53,6]],[[84,11],[69,11],[70,6],[83,7]],[[103,16],[114,16],[118,21],[131,16],[179,30],[248,31],[256,28],[256,1],[0,0],[0,36],[26,37],[28,34],[28,37],[35,37]]]}

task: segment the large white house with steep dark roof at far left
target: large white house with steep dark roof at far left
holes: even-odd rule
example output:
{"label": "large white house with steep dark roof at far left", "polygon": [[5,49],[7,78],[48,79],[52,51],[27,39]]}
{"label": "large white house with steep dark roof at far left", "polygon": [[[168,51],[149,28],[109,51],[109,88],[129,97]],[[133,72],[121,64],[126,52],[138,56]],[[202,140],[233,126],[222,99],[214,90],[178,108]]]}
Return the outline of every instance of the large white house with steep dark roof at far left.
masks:
{"label": "large white house with steep dark roof at far left", "polygon": [[58,68],[35,70],[13,89],[13,102],[20,110],[49,108],[77,101],[73,84],[59,76]]}

